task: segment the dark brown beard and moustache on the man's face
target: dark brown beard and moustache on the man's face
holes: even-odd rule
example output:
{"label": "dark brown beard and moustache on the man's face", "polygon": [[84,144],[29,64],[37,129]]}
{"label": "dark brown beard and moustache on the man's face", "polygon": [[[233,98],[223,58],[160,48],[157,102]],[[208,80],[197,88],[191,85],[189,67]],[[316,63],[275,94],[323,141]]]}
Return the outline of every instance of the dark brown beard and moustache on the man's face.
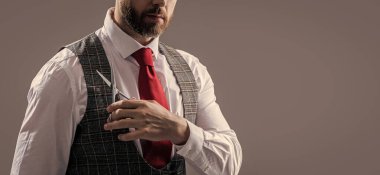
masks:
{"label": "dark brown beard and moustache on the man's face", "polygon": [[[160,10],[160,7],[153,7],[151,9],[143,11],[138,14],[137,10],[132,5],[127,5],[122,8],[122,17],[134,32],[140,34],[143,37],[157,37],[165,31],[169,26],[170,19],[168,19],[166,13]],[[163,24],[160,23],[147,23],[144,21],[147,14],[157,14],[163,16]]]}

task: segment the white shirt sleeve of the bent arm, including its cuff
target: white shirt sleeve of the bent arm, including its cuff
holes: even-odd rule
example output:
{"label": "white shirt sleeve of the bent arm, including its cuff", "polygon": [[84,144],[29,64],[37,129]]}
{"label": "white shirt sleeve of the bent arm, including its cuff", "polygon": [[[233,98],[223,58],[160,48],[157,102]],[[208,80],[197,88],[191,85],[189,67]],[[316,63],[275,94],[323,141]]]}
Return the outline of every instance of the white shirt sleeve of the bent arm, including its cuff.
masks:
{"label": "white shirt sleeve of the bent arm, including its cuff", "polygon": [[198,59],[179,51],[189,63],[199,87],[196,124],[188,121],[190,136],[177,153],[200,174],[235,175],[242,163],[242,150],[235,132],[216,103],[214,83]]}

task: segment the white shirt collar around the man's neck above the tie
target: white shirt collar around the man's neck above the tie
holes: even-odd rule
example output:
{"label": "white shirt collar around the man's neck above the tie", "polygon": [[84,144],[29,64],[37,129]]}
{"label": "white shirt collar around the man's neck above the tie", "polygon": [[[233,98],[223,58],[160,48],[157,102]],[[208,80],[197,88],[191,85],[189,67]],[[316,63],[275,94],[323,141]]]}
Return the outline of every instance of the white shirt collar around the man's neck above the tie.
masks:
{"label": "white shirt collar around the man's neck above the tie", "polygon": [[151,41],[146,46],[141,45],[139,42],[137,42],[131,36],[126,34],[123,30],[119,28],[119,26],[115,24],[112,18],[114,10],[114,7],[108,9],[106,18],[104,20],[104,29],[107,35],[109,36],[113,46],[120,53],[122,58],[127,58],[137,50],[145,47],[152,49],[154,55],[153,60],[156,60],[157,55],[159,53],[159,37],[154,38],[153,41]]}

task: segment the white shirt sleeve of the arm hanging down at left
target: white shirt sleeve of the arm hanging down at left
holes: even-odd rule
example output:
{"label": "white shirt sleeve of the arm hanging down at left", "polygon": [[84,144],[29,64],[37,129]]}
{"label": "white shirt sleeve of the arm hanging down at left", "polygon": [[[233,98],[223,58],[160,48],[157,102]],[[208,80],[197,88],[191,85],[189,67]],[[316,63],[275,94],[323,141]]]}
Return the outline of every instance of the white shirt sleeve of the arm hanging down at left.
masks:
{"label": "white shirt sleeve of the arm hanging down at left", "polygon": [[65,174],[75,121],[65,70],[50,60],[34,78],[17,139],[11,174]]}

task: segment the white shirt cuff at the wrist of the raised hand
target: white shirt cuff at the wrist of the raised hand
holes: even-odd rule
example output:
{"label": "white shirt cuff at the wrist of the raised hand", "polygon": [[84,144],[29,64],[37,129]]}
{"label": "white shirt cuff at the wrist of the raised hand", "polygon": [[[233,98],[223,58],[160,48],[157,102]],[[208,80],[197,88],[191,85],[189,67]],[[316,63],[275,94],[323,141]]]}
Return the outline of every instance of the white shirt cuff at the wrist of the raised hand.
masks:
{"label": "white shirt cuff at the wrist of the raised hand", "polygon": [[190,136],[184,145],[174,145],[177,154],[190,159],[199,160],[202,154],[202,147],[204,143],[203,129],[187,121],[190,130]]}

